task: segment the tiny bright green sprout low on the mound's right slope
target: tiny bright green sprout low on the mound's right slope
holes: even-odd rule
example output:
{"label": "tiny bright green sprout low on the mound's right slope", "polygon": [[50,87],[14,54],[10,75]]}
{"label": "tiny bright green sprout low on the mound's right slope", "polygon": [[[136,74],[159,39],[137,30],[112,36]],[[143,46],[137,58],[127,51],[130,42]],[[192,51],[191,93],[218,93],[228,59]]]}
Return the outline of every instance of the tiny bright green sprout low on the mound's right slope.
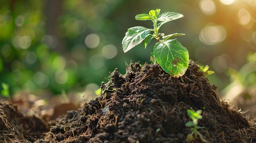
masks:
{"label": "tiny bright green sprout low on the mound's right slope", "polygon": [[189,117],[193,120],[193,121],[189,121],[187,122],[185,125],[186,127],[190,127],[190,130],[192,131],[190,134],[188,134],[186,136],[186,141],[187,143],[192,143],[193,141],[197,140],[197,137],[200,137],[200,140],[204,143],[208,143],[208,141],[206,141],[202,134],[200,134],[200,132],[198,132],[198,129],[204,129],[205,127],[200,127],[198,126],[198,120],[201,120],[203,117],[201,115],[202,110],[197,110],[196,112],[188,109],[186,110],[186,112],[188,113]]}

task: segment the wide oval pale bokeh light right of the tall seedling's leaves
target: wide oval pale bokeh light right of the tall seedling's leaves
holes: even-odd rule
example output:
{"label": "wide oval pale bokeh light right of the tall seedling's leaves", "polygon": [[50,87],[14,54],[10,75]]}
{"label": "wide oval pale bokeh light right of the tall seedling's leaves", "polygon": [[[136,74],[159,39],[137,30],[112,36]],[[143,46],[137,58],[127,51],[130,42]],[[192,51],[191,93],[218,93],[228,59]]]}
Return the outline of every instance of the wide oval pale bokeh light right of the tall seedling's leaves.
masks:
{"label": "wide oval pale bokeh light right of the tall seedling's leaves", "polygon": [[207,45],[218,44],[224,41],[226,36],[226,29],[220,25],[205,26],[199,35],[201,42]]}

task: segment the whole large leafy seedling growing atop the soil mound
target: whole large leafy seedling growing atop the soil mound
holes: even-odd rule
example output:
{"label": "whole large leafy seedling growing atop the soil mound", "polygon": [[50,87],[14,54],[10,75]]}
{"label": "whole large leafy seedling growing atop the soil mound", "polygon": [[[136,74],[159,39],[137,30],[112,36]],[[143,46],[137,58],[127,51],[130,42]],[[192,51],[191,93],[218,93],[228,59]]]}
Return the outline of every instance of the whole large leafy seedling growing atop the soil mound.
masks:
{"label": "whole large leafy seedling growing atop the soil mound", "polygon": [[[177,39],[169,40],[169,38],[185,34],[165,35],[164,33],[159,33],[159,29],[166,22],[182,17],[182,14],[175,12],[160,14],[160,9],[151,10],[148,14],[136,15],[136,20],[151,20],[153,29],[147,29],[143,26],[135,26],[128,29],[122,41],[124,53],[140,44],[143,40],[145,40],[146,48],[152,39],[156,39],[157,43],[153,52],[151,52],[150,61],[153,61],[154,64],[158,63],[166,73],[174,77],[181,77],[189,67],[189,52]],[[150,34],[152,32],[153,34]]]}

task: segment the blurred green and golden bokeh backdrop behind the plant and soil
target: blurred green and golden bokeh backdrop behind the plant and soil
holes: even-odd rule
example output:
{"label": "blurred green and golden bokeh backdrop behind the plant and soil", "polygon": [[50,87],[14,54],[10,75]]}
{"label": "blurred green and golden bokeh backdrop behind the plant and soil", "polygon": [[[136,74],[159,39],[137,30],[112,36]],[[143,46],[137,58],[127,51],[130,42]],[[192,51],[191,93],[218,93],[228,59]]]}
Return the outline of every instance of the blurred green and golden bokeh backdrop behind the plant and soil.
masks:
{"label": "blurred green and golden bokeh backdrop behind the plant and soil", "polygon": [[1,0],[0,83],[12,95],[93,94],[110,71],[124,74],[125,62],[149,62],[155,41],[127,53],[121,41],[132,26],[153,27],[135,15],[157,8],[184,15],[160,32],[185,33],[177,39],[215,71],[208,78],[219,91],[248,62],[248,86],[256,83],[256,0]]}

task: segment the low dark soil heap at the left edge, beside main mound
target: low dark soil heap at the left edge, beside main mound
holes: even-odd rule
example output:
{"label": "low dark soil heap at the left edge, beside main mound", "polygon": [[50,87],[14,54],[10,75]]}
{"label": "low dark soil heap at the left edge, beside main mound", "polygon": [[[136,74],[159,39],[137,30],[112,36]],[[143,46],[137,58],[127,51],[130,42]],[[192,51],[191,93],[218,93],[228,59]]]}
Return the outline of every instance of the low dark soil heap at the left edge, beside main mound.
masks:
{"label": "low dark soil heap at the left edge, beside main mound", "polygon": [[17,106],[0,102],[0,143],[31,143],[44,137],[49,126],[35,116],[27,116]]}

